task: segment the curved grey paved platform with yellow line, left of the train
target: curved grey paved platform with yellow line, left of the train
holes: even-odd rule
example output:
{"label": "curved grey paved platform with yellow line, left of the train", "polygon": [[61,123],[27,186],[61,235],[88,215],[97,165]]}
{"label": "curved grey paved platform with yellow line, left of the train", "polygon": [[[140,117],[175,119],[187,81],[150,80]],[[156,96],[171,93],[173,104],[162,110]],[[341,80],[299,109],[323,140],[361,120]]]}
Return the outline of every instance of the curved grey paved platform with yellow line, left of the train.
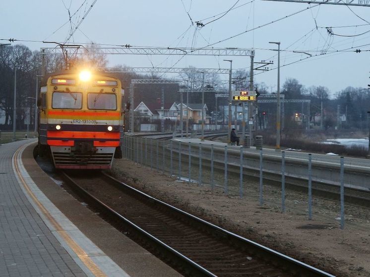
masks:
{"label": "curved grey paved platform with yellow line, left of the train", "polygon": [[35,145],[0,145],[0,277],[181,276],[64,191]]}

